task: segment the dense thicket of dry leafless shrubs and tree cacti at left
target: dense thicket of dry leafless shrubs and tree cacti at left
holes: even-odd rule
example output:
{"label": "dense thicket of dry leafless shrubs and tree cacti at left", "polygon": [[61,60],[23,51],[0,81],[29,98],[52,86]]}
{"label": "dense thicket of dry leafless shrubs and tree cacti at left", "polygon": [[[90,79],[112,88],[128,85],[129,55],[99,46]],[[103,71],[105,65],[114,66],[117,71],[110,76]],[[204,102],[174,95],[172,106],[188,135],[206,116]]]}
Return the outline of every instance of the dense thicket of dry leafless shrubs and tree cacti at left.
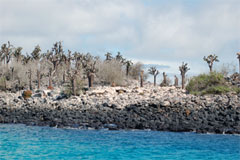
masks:
{"label": "dense thicket of dry leafless shrubs and tree cacti at left", "polygon": [[142,64],[133,64],[120,52],[115,57],[107,53],[106,59],[101,60],[90,53],[66,52],[62,42],[56,42],[46,52],[37,45],[30,54],[23,54],[22,47],[8,42],[0,50],[0,89],[18,91],[65,86],[66,92],[76,95],[81,87],[94,84],[126,85],[128,80],[138,79],[142,68]]}

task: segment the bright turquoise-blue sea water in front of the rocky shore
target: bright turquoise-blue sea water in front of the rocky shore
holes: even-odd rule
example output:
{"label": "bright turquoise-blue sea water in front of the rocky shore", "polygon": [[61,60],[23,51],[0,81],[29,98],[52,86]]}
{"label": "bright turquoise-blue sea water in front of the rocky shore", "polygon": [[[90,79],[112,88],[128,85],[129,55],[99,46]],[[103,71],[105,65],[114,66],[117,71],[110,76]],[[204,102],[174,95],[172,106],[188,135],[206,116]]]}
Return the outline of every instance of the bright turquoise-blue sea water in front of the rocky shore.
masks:
{"label": "bright turquoise-blue sea water in front of the rocky shore", "polygon": [[0,124],[0,159],[240,160],[240,136]]}

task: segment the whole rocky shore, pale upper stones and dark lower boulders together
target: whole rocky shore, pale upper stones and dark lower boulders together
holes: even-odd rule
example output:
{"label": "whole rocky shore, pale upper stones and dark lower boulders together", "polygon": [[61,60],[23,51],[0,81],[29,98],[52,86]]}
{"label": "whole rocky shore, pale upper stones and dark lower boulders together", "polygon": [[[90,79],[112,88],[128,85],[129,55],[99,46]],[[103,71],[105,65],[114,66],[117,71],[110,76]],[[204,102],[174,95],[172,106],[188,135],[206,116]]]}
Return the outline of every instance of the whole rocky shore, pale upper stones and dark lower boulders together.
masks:
{"label": "whole rocky shore, pale upper stones and dark lower boulders together", "polygon": [[240,134],[240,95],[194,96],[151,85],[96,87],[70,98],[60,90],[19,95],[0,93],[0,123]]}

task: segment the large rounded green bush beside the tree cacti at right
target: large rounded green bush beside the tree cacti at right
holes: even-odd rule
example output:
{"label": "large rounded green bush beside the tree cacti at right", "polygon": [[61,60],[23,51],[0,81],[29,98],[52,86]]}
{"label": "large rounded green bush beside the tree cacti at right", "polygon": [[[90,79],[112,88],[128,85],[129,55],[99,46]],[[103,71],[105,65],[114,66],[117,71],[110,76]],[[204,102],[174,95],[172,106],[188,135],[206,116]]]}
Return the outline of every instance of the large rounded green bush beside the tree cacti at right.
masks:
{"label": "large rounded green bush beside the tree cacti at right", "polygon": [[195,95],[224,94],[231,91],[221,73],[212,72],[193,77],[186,90]]}

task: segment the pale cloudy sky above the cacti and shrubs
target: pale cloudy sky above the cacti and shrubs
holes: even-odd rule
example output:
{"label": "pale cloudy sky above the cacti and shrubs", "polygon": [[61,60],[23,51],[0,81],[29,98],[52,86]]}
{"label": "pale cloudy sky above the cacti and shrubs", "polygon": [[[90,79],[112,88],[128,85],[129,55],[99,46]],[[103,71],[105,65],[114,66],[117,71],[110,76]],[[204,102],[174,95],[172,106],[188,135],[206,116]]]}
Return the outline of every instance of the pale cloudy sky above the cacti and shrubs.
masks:
{"label": "pale cloudy sky above the cacti and shrubs", "polygon": [[62,41],[68,49],[106,52],[178,73],[208,71],[203,56],[238,65],[240,0],[0,0],[0,44],[30,53]]}

